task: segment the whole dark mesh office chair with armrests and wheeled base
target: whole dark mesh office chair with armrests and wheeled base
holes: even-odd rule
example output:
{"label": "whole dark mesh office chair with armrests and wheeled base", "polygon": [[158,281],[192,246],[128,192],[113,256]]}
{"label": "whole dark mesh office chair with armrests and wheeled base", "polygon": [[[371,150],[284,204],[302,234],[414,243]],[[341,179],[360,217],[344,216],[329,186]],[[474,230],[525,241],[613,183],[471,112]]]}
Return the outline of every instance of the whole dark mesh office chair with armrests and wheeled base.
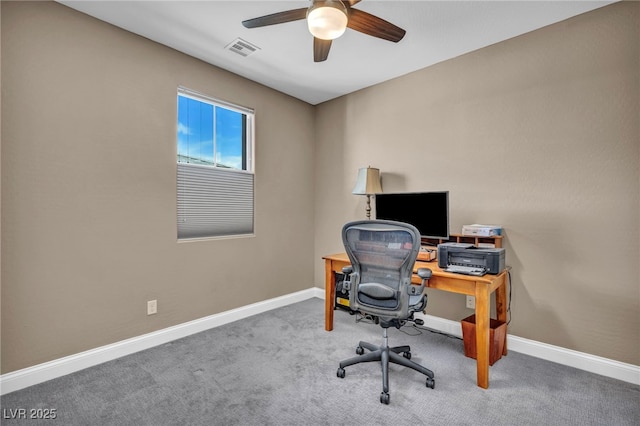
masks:
{"label": "whole dark mesh office chair with armrests and wheeled base", "polygon": [[[420,234],[407,223],[385,220],[351,222],[342,228],[342,241],[351,266],[343,269],[344,286],[349,290],[351,309],[376,318],[383,329],[381,346],[358,343],[358,356],[340,363],[338,377],[345,367],[361,362],[380,361],[382,393],[380,402],[389,404],[389,362],[403,365],[427,376],[427,387],[435,386],[433,372],[411,359],[409,346],[389,347],[387,329],[402,327],[407,321],[419,321],[413,313],[427,305],[424,288],[431,270],[420,268],[421,285],[412,285],[413,268],[420,250]],[[365,354],[365,349],[370,352]],[[401,355],[402,354],[402,355]]]}

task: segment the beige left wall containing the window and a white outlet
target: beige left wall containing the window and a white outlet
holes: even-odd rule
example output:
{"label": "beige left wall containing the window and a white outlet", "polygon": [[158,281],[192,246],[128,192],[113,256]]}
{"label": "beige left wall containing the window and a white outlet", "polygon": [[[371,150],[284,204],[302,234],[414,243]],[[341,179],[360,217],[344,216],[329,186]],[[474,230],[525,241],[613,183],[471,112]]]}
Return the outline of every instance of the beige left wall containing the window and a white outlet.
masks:
{"label": "beige left wall containing the window and a white outlet", "polygon": [[[3,373],[313,286],[314,107],[56,3],[1,75]],[[178,85],[255,108],[254,238],[176,242]]]}

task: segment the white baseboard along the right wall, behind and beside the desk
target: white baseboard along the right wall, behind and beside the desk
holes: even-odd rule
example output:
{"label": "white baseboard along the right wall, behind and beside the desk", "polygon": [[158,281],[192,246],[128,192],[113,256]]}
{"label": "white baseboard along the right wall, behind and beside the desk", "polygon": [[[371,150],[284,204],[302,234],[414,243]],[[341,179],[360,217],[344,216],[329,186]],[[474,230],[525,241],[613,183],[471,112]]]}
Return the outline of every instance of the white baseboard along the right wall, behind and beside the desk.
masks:
{"label": "white baseboard along the right wall, behind and beside the desk", "polygon": [[[428,328],[452,336],[462,337],[460,322],[431,315],[416,315],[416,317],[421,317]],[[507,335],[507,348],[509,351],[520,352],[525,355],[640,385],[640,366],[637,365],[614,361],[510,334]]]}

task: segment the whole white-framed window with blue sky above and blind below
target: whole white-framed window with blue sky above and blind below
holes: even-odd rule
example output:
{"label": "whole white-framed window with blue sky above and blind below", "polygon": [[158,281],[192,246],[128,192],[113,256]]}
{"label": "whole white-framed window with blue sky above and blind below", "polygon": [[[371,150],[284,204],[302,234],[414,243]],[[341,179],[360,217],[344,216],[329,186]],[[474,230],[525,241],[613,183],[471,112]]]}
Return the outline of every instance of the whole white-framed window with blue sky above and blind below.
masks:
{"label": "whole white-framed window with blue sky above and blind below", "polygon": [[253,234],[253,110],[178,89],[178,239]]}

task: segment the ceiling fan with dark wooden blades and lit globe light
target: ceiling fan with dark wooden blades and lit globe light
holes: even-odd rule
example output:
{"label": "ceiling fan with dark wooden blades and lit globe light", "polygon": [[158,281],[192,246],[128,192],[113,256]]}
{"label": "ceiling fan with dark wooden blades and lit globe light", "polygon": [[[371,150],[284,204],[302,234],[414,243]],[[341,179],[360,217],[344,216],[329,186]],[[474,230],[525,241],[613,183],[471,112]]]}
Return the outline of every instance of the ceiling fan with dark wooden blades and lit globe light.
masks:
{"label": "ceiling fan with dark wooden blades and lit globe light", "polygon": [[314,62],[327,59],[331,42],[347,28],[394,43],[402,40],[405,30],[370,13],[354,9],[357,3],[360,0],[312,0],[309,7],[247,19],[242,21],[242,25],[257,28],[306,18],[309,32],[313,35]]}

